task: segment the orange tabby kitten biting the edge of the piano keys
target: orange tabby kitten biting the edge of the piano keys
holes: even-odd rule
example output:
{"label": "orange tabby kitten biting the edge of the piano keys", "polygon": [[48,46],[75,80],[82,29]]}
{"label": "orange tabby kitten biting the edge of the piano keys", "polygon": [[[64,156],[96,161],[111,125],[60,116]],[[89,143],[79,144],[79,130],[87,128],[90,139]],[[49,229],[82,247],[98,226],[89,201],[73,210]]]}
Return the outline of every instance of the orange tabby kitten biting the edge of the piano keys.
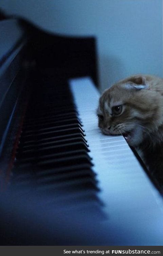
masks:
{"label": "orange tabby kitten biting the edge of the piano keys", "polygon": [[122,134],[163,193],[163,79],[134,75],[113,84],[99,99],[98,126]]}

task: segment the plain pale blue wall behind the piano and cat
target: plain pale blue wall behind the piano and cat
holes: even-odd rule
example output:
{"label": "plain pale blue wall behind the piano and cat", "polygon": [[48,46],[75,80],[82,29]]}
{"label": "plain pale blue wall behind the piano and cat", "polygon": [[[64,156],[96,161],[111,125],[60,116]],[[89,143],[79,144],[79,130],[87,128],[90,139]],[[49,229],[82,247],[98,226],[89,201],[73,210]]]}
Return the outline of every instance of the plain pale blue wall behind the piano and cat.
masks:
{"label": "plain pale blue wall behind the piano and cat", "polygon": [[135,73],[163,76],[162,0],[1,0],[44,29],[97,37],[101,91]]}

